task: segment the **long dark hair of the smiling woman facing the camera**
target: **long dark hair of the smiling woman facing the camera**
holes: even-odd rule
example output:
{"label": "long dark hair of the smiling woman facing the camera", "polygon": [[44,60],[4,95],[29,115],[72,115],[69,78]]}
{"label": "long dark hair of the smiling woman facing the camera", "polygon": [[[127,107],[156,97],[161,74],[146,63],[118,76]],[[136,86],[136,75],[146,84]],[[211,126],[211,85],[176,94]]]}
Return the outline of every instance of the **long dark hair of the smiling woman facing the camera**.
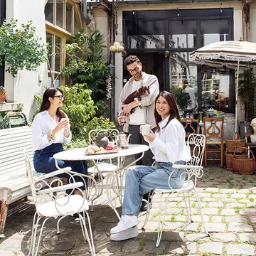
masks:
{"label": "long dark hair of the smiling woman facing the camera", "polygon": [[159,99],[159,97],[164,97],[166,99],[166,102],[168,103],[169,107],[171,108],[170,113],[169,113],[170,117],[169,117],[169,120],[168,120],[167,124],[165,125],[165,127],[174,118],[178,119],[178,121],[181,122],[181,117],[178,114],[178,107],[176,105],[174,95],[172,95],[171,92],[161,91],[159,93],[159,95],[156,97],[156,100],[155,100],[154,117],[155,117],[155,120],[156,120],[156,132],[160,131],[159,122],[161,122],[161,119],[162,119],[161,115],[156,111],[156,102]]}

